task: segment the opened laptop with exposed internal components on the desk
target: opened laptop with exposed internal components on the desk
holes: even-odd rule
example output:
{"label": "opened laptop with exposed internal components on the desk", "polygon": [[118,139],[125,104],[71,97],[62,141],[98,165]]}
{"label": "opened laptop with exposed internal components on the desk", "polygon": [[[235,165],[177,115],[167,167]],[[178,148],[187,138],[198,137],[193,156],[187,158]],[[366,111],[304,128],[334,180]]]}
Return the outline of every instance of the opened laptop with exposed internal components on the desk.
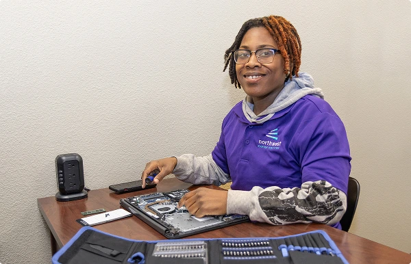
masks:
{"label": "opened laptop with exposed internal components on the desk", "polygon": [[249,221],[247,215],[212,215],[198,218],[185,207],[177,209],[179,200],[187,192],[190,191],[178,189],[173,192],[145,194],[121,199],[120,204],[169,239]]}

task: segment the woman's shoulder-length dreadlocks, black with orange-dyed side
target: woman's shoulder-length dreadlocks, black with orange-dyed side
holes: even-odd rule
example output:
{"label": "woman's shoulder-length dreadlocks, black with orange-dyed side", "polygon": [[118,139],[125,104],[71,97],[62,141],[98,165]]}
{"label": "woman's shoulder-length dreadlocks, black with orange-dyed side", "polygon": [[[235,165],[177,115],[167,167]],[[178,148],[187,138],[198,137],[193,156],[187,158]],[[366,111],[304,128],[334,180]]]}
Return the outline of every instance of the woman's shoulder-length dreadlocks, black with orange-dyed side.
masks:
{"label": "woman's shoulder-length dreadlocks, black with orange-dyed side", "polygon": [[234,83],[236,88],[241,88],[236,74],[236,62],[232,57],[232,52],[240,47],[244,35],[254,27],[265,27],[273,36],[277,43],[281,55],[284,57],[284,73],[287,75],[286,81],[292,79],[295,75],[298,77],[299,66],[301,65],[301,41],[297,33],[297,29],[282,16],[264,16],[262,18],[253,18],[242,24],[240,31],[236,36],[236,40],[225,51],[224,55],[224,70],[228,68],[231,83]]}

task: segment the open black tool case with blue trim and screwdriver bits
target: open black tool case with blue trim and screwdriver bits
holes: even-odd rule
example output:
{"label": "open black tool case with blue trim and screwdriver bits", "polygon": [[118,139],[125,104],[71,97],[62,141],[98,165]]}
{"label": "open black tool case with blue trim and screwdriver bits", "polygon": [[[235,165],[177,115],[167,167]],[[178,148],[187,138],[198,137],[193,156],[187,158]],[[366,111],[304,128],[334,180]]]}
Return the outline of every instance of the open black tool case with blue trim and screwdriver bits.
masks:
{"label": "open black tool case with blue trim and screwdriver bits", "polygon": [[137,241],[84,226],[53,264],[348,263],[323,230],[287,237]]}

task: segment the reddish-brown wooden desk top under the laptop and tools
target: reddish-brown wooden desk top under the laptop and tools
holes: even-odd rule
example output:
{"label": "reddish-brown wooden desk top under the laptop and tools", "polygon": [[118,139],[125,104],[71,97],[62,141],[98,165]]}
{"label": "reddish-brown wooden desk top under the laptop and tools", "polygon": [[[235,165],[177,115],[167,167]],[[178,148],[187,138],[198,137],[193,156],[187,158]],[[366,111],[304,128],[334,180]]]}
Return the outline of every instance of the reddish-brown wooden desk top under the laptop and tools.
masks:
{"label": "reddish-brown wooden desk top under the laptop and tools", "polygon": [[[208,186],[218,189],[215,186]],[[58,202],[55,197],[39,198],[38,208],[51,231],[51,250],[53,254],[66,244],[82,226],[75,220],[82,218],[81,212],[104,208],[106,211],[119,209],[121,198],[153,192],[169,192],[175,189],[195,189],[188,183],[175,178],[164,179],[156,188],[127,194],[114,194],[108,188],[88,192],[88,198],[71,202]],[[138,240],[166,239],[153,228],[132,216],[105,224],[93,226],[99,230],[121,237]],[[218,238],[218,237],[282,237],[312,230],[324,230],[343,252],[349,263],[411,263],[411,255],[389,248],[371,240],[352,235],[345,231],[324,224],[290,224],[272,226],[266,223],[245,222],[227,226],[186,238]]]}

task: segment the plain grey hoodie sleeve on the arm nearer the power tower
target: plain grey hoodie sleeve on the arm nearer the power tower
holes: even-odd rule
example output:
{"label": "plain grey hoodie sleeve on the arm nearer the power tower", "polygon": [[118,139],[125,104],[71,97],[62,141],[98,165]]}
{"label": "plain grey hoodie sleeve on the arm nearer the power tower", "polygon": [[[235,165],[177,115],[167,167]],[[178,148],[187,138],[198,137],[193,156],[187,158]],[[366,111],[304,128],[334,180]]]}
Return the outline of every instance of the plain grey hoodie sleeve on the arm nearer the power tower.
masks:
{"label": "plain grey hoodie sleeve on the arm nearer the power tower", "polygon": [[177,166],[175,166],[173,174],[180,181],[197,185],[213,184],[216,186],[231,181],[229,175],[217,166],[211,154],[204,157],[184,154],[176,158]]}

